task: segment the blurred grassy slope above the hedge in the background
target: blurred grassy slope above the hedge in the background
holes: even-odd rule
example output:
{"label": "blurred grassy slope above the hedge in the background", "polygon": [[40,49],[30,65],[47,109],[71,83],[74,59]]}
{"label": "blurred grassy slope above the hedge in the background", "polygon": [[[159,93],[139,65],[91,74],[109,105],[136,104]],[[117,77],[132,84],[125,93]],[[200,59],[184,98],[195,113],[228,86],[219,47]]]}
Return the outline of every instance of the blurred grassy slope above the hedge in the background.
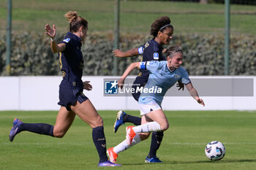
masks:
{"label": "blurred grassy slope above the hedge in the background", "polygon": [[[0,30],[6,28],[7,2],[0,0]],[[45,23],[56,24],[58,31],[67,31],[64,14],[76,10],[89,21],[89,31],[113,32],[114,5],[110,0],[18,0],[12,1],[14,31],[44,31]],[[148,34],[151,23],[167,15],[175,34],[216,34],[225,31],[224,4],[197,4],[173,1],[121,1],[121,34]],[[256,8],[231,5],[231,34],[256,34]]]}

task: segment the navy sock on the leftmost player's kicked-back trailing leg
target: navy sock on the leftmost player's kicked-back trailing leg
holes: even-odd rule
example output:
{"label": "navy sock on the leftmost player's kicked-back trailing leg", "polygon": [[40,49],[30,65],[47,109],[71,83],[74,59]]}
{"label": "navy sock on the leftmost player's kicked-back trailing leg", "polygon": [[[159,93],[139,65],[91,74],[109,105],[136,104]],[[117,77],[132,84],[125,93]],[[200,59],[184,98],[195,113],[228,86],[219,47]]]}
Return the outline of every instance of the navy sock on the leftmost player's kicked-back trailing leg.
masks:
{"label": "navy sock on the leftmost player's kicked-back trailing leg", "polygon": [[21,125],[20,131],[31,131],[36,134],[53,136],[53,128],[53,125],[46,123],[24,123]]}

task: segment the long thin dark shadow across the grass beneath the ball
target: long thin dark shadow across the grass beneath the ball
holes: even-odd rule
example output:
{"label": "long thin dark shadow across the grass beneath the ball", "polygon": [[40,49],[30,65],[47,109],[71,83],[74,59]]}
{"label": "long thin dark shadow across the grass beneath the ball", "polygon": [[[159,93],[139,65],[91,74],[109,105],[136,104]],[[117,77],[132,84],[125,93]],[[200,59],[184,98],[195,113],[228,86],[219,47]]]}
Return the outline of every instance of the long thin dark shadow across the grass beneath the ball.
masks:
{"label": "long thin dark shadow across the grass beneath the ball", "polygon": [[193,163],[255,163],[256,159],[233,159],[221,161],[164,161],[163,163],[122,163],[122,165],[159,165],[159,164],[193,164]]}

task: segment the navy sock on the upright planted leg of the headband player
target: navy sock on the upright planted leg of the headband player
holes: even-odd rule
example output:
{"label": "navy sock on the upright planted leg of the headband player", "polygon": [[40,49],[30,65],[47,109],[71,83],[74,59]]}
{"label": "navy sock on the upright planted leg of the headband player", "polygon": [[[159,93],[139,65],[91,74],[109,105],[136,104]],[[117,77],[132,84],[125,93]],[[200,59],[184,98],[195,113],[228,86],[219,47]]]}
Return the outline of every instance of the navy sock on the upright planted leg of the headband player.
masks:
{"label": "navy sock on the upright planted leg of the headband player", "polygon": [[163,137],[164,137],[163,131],[152,133],[150,151],[147,156],[148,158],[157,157],[157,150],[160,147]]}

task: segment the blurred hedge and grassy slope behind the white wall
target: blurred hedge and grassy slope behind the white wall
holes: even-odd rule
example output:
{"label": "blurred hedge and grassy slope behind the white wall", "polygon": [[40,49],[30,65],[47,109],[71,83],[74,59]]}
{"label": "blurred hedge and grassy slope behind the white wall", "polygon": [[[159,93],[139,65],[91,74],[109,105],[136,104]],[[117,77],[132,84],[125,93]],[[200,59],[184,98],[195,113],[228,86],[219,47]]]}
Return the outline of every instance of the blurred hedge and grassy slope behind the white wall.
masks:
{"label": "blurred hedge and grassy slope behind the white wall", "polygon": [[[0,75],[61,75],[58,55],[50,50],[45,24],[56,24],[58,41],[69,24],[64,14],[75,10],[89,22],[83,45],[84,75],[113,75],[115,0],[12,1],[10,72],[6,36],[8,0],[0,0]],[[225,74],[225,1],[120,0],[120,50],[140,47],[152,37],[151,23],[167,15],[174,26],[170,45],[184,50],[183,66],[190,75],[256,74],[256,1],[230,0],[229,69]],[[166,46],[166,47],[168,47]],[[141,56],[118,58],[117,75]],[[137,72],[134,72],[137,74]]]}

